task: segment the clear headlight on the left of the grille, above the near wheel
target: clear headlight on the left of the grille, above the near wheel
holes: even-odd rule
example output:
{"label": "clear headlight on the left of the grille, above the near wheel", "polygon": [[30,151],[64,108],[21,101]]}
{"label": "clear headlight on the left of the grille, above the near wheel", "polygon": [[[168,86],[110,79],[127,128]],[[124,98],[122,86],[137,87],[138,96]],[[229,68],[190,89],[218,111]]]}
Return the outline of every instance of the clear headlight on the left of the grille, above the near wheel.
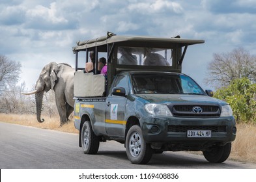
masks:
{"label": "clear headlight on the left of the grille, above the near wheel", "polygon": [[149,112],[149,114],[155,116],[173,116],[167,105],[164,104],[147,103],[145,105],[145,109],[147,112]]}

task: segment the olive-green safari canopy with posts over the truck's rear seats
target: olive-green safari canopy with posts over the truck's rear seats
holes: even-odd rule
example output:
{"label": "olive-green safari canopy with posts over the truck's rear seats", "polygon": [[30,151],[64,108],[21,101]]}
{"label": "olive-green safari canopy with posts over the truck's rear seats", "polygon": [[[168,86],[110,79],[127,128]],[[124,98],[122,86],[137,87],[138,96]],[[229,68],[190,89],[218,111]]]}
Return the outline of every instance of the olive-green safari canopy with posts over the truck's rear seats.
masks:
{"label": "olive-green safari canopy with posts over the truck's rear seats", "polygon": [[[184,39],[180,36],[173,38],[119,36],[107,32],[106,36],[77,42],[73,52],[76,54],[76,71],[85,69],[85,62],[90,61],[90,51],[94,51],[96,60],[104,53],[107,59],[107,88],[109,88],[113,77],[121,71],[181,72],[188,45],[204,42],[204,40]],[[78,60],[81,51],[85,52],[85,58]],[[84,63],[83,68],[78,68],[78,62],[81,61]],[[98,61],[95,62],[94,68],[98,68]]]}

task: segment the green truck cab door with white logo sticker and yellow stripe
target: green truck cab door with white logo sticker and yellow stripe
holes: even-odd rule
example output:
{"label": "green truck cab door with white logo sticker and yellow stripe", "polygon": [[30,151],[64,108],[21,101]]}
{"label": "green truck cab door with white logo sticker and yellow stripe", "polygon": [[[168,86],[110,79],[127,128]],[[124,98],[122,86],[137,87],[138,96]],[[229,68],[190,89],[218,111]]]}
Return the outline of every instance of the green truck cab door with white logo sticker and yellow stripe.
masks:
{"label": "green truck cab door with white logo sticker and yellow stripe", "polygon": [[[118,75],[113,87],[122,87],[129,91],[128,79],[124,75]],[[110,91],[111,92],[111,91]],[[112,136],[124,136],[126,121],[124,121],[127,98],[124,96],[114,96],[109,93],[106,99],[106,132]]]}

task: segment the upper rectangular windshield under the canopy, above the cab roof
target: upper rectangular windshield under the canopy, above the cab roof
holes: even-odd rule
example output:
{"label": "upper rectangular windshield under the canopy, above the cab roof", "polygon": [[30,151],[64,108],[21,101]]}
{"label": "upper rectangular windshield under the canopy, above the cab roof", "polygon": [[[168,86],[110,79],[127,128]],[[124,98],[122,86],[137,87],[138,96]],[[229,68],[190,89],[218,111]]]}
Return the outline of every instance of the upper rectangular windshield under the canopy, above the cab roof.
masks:
{"label": "upper rectangular windshield under the canopy, above the cab roof", "polygon": [[171,49],[149,47],[118,47],[118,64],[172,66]]}

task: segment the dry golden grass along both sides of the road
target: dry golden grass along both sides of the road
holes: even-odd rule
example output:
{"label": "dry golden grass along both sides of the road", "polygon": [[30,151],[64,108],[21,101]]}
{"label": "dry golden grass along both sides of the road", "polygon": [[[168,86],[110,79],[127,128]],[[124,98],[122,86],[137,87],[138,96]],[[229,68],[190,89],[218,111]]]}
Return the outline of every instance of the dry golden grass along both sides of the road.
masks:
{"label": "dry golden grass along both sides of the road", "polygon": [[[44,118],[45,122],[38,123],[36,116],[34,115],[0,113],[0,122],[16,123],[20,125],[28,125],[68,133],[78,133],[78,130],[75,129],[73,122],[63,125],[63,127],[59,127],[59,116],[52,118],[42,116],[42,118]],[[233,159],[235,161],[256,162],[256,125],[237,125],[236,140],[233,142],[229,159]]]}

